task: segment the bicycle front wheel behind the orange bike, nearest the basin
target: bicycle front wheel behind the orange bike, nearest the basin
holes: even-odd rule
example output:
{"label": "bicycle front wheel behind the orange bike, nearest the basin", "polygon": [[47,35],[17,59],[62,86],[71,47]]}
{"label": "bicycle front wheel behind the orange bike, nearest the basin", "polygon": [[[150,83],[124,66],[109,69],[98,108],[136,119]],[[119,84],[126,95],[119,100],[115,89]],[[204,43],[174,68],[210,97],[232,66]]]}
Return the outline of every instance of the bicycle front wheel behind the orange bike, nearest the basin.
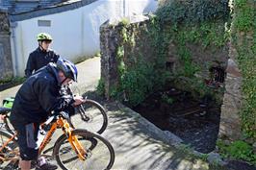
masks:
{"label": "bicycle front wheel behind the orange bike, nearest the basin", "polygon": [[75,129],[86,129],[92,133],[102,134],[107,128],[108,116],[100,104],[88,99],[77,107],[71,122]]}

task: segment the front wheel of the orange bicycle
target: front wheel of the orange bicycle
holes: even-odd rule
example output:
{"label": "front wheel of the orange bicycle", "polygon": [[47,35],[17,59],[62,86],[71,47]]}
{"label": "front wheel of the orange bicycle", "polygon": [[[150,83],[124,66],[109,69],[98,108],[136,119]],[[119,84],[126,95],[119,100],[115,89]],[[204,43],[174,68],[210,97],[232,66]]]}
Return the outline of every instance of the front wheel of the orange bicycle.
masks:
{"label": "front wheel of the orange bicycle", "polygon": [[64,170],[111,169],[115,161],[115,152],[105,138],[86,130],[75,130],[79,142],[87,152],[86,160],[78,158],[67,137],[63,134],[55,143],[53,156]]}

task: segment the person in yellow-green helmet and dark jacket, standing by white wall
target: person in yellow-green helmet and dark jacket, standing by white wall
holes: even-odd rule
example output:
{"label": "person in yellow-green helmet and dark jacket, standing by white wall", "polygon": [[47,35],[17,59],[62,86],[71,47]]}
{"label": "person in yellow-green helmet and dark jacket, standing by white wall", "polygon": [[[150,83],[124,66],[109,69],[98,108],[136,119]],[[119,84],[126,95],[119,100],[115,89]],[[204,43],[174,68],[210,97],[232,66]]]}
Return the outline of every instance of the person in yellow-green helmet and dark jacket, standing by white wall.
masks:
{"label": "person in yellow-green helmet and dark jacket, standing by white wall", "polygon": [[37,71],[49,62],[56,62],[59,59],[59,55],[49,48],[53,40],[52,36],[47,33],[39,33],[37,39],[38,48],[29,55],[27,61],[25,69],[25,76],[27,78],[32,75],[33,71]]}

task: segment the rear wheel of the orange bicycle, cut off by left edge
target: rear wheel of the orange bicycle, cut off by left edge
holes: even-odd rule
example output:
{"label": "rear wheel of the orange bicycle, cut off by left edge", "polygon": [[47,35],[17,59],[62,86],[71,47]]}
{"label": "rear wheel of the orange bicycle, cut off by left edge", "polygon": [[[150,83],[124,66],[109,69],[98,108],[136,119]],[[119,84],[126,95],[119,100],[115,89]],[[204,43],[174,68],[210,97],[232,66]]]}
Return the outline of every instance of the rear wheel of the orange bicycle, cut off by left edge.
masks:
{"label": "rear wheel of the orange bicycle, cut off by left edge", "polygon": [[[4,146],[13,134],[0,131],[0,148]],[[15,169],[19,159],[19,148],[15,139],[9,141],[7,145],[0,151],[0,168],[1,169]],[[3,161],[4,160],[4,161]]]}

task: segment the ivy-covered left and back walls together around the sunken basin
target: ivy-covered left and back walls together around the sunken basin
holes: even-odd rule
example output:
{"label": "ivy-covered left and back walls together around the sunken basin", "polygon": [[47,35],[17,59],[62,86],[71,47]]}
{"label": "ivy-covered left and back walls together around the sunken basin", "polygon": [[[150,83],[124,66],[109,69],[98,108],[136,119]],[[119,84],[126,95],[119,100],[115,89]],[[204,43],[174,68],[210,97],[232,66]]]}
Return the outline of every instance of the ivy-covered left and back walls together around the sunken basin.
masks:
{"label": "ivy-covered left and back walls together around the sunken basin", "polygon": [[[163,3],[147,21],[123,20],[101,28],[105,94],[136,106],[168,83],[196,96],[215,95],[221,102],[222,90],[208,88],[205,79],[211,66],[226,66],[227,1]],[[171,70],[166,69],[169,61],[173,62]]]}

